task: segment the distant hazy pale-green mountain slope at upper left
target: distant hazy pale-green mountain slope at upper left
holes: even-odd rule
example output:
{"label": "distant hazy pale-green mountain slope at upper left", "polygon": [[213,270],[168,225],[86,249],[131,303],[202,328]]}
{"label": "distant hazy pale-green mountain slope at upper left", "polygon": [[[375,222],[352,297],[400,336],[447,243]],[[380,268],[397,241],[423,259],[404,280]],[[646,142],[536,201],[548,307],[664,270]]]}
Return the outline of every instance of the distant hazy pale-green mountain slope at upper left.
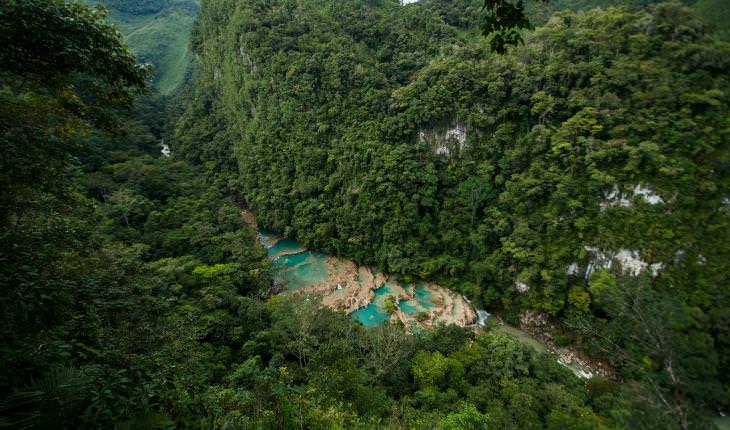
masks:
{"label": "distant hazy pale-green mountain slope at upper left", "polygon": [[199,0],[86,0],[109,9],[140,61],[155,67],[154,88],[169,95],[179,87],[190,66],[188,44]]}

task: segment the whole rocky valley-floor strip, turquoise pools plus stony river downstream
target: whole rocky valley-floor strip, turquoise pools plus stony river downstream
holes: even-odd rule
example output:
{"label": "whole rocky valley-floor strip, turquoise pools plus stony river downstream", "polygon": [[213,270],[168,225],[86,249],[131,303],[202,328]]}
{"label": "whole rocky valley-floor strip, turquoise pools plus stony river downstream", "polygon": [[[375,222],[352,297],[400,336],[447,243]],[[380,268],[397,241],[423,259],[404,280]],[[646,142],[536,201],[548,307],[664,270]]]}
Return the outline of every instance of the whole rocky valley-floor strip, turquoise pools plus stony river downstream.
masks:
{"label": "whole rocky valley-floor strip, turquoise pools plus stony river downstream", "polygon": [[[272,294],[315,294],[322,304],[352,315],[367,327],[385,321],[400,322],[412,334],[437,324],[454,324],[476,332],[495,330],[535,350],[556,357],[577,376],[602,375],[616,378],[616,372],[600,360],[582,356],[574,348],[557,346],[555,332],[545,315],[526,312],[519,328],[477,311],[461,294],[433,283],[403,283],[373,267],[359,266],[339,257],[307,250],[296,241],[260,229],[256,216],[243,210],[242,218],[256,232],[275,268]],[[485,324],[487,319],[495,321]]]}

